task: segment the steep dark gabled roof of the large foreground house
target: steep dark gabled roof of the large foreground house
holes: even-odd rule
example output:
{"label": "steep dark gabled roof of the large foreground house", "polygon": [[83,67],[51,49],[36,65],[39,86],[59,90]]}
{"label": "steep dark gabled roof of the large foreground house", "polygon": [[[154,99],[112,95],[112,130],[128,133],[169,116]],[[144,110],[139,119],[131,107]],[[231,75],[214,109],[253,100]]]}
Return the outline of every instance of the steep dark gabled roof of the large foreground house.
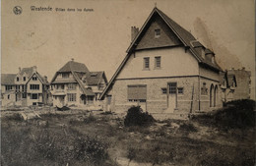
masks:
{"label": "steep dark gabled roof of the large foreground house", "polygon": [[[150,24],[150,21],[154,17],[154,15],[159,15],[160,16],[160,18],[165,22],[165,24],[168,26],[168,28],[170,28],[174,32],[174,34],[178,37],[178,39],[183,43],[185,48],[191,52],[191,54],[198,60],[198,62],[200,64],[203,64],[204,66],[207,66],[210,69],[213,69],[215,71],[223,71],[217,63],[208,62],[207,60],[205,60],[201,56],[201,54],[199,52],[196,51],[196,49],[194,48],[195,45],[191,44],[191,41],[196,41],[196,38],[189,31],[187,31],[185,28],[180,27],[173,20],[171,20],[169,17],[167,17],[163,12],[161,12],[157,7],[155,7],[153,9],[152,13],[150,14],[150,16],[148,17],[148,19],[146,20],[146,22],[144,23],[143,27],[140,29],[140,31],[135,36],[135,38],[131,42],[130,46],[126,50],[127,55],[125,56],[121,65],[118,67],[117,71],[115,72],[115,74],[111,78],[110,82],[107,84],[107,86],[103,90],[99,99],[103,98],[105,92],[108,90],[108,88],[111,86],[111,84],[113,83],[113,81],[115,80],[115,78],[117,77],[119,72],[122,70],[123,66],[125,65],[125,63],[129,59],[130,55],[132,54],[132,52],[136,48],[136,46],[138,44],[138,41],[142,37],[143,31],[146,30],[147,25]],[[202,45],[200,42],[196,43],[196,44],[197,44],[196,46]],[[204,46],[202,45],[202,47],[204,47]]]}

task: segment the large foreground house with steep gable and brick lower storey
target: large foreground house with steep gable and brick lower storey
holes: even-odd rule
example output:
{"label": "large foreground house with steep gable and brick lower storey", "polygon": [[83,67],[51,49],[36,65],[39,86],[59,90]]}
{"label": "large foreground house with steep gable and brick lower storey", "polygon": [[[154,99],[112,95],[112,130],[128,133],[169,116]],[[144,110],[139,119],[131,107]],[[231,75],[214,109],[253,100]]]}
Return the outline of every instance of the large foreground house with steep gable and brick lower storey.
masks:
{"label": "large foreground house with steep gable and brick lower storey", "polygon": [[123,113],[140,105],[150,113],[191,113],[222,106],[215,53],[158,8],[132,28],[127,55],[100,99]]}

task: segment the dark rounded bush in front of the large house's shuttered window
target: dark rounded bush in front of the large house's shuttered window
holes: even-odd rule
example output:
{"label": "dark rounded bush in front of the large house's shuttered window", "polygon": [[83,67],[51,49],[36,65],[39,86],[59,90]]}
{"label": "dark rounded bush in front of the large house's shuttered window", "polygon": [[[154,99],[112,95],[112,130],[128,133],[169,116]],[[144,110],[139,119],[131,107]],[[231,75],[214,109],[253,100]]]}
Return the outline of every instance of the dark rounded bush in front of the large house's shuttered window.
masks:
{"label": "dark rounded bush in front of the large house's shuttered window", "polygon": [[124,126],[150,126],[155,119],[148,112],[143,112],[140,106],[131,107],[124,119]]}

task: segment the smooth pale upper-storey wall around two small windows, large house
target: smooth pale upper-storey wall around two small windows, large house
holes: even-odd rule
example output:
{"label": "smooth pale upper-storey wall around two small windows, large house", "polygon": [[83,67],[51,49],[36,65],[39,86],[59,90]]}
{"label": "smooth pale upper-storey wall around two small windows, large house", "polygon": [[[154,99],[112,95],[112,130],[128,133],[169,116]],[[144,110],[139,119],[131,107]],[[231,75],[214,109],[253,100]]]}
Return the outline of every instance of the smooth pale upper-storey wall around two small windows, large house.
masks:
{"label": "smooth pale upper-storey wall around two small windows, large house", "polygon": [[[155,69],[155,57],[161,57],[161,68]],[[150,70],[144,70],[144,57],[150,57]],[[197,60],[183,47],[136,51],[130,56],[117,79],[159,78],[199,75]]]}

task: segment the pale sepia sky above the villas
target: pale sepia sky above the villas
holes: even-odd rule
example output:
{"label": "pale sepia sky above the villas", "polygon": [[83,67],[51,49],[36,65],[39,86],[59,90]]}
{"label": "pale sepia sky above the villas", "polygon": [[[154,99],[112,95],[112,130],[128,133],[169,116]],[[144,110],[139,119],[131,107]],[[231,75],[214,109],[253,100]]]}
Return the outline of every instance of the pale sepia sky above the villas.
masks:
{"label": "pale sepia sky above the villas", "polygon": [[[255,91],[253,0],[2,0],[1,73],[37,66],[51,81],[74,58],[90,71],[104,71],[109,81],[126,55],[131,27],[141,28],[156,5],[212,49],[224,70],[251,71]],[[14,14],[15,6],[22,14]],[[52,11],[32,11],[32,6]]]}

